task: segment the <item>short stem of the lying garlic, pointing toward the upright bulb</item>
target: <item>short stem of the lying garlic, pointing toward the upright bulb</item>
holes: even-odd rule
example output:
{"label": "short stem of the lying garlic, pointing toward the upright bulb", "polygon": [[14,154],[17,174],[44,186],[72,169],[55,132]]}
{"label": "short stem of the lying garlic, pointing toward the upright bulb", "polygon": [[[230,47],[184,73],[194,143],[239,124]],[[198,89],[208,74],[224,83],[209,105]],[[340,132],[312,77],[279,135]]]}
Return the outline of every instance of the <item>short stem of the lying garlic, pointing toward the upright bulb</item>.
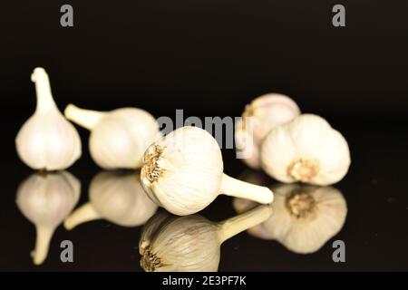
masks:
{"label": "short stem of the lying garlic, pointing toward the upright bulb", "polygon": [[81,109],[70,103],[66,106],[63,114],[66,119],[71,120],[88,130],[92,130],[104,113],[101,111]]}

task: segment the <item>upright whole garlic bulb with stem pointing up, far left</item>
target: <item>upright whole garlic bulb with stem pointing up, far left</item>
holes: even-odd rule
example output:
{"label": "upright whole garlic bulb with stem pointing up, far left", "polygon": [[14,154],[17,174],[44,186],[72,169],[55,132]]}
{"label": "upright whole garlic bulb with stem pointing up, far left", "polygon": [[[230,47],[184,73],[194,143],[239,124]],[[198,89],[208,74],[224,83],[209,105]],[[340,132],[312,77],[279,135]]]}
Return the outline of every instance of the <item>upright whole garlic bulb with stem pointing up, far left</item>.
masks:
{"label": "upright whole garlic bulb with stem pointing up, far left", "polygon": [[18,156],[32,169],[67,169],[81,156],[79,134],[53,102],[44,69],[34,69],[31,80],[35,82],[37,105],[15,138]]}

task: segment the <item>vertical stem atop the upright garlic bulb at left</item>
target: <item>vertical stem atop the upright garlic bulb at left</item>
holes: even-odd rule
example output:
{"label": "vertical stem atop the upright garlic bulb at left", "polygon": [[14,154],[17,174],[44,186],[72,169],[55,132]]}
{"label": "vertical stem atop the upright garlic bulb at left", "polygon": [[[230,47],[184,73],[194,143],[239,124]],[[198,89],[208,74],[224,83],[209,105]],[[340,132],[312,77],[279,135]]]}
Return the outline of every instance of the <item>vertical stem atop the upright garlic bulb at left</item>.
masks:
{"label": "vertical stem atop the upright garlic bulb at left", "polygon": [[31,74],[31,81],[35,83],[35,92],[37,95],[37,105],[35,111],[52,111],[57,109],[51,93],[50,79],[45,70],[41,67],[34,69]]}

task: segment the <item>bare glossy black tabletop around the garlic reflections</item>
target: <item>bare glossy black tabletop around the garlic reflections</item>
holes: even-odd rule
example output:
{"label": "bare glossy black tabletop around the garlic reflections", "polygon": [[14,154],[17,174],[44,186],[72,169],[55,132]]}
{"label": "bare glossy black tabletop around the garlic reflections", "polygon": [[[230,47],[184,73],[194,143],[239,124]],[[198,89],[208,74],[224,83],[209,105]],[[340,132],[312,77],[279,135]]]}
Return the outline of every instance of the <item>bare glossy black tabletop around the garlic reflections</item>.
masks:
{"label": "bare glossy black tabletop around the garlic reflections", "polygon": [[[219,271],[276,270],[407,270],[408,195],[404,186],[408,164],[408,135],[403,122],[334,121],[344,132],[352,152],[352,166],[340,183],[347,202],[345,226],[314,254],[290,252],[276,241],[241,233],[221,247]],[[12,132],[9,132],[11,138]],[[2,238],[0,269],[29,271],[140,271],[138,250],[141,227],[120,227],[105,220],[92,221],[72,231],[58,227],[44,265],[34,266],[30,251],[34,247],[34,226],[15,205],[16,189],[32,171],[8,147],[3,163],[8,169],[2,180]],[[247,169],[235,160],[232,150],[223,150],[225,170],[234,177]],[[84,153],[69,170],[81,180],[79,205],[88,200],[90,179],[100,170]],[[261,173],[259,173],[261,174]],[[267,177],[263,176],[264,179]],[[267,179],[268,180],[268,179]],[[270,179],[270,183],[274,181]],[[232,199],[219,197],[199,214],[211,221],[236,215]],[[73,241],[74,263],[60,261],[60,243]],[[345,241],[345,263],[332,260],[332,243]],[[205,249],[203,249],[205,250]]]}

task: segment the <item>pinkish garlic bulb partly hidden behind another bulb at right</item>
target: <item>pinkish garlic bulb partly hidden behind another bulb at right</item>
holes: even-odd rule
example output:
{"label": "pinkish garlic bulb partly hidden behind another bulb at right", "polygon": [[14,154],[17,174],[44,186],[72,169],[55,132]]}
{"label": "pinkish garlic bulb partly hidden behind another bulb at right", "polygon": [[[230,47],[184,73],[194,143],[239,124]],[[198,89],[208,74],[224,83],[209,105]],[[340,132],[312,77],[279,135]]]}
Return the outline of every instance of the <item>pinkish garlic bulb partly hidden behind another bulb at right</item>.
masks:
{"label": "pinkish garlic bulb partly hidden behind another bulb at right", "polygon": [[253,100],[235,125],[235,142],[242,159],[252,169],[260,169],[260,146],[267,133],[300,114],[292,99],[280,93],[267,93]]}

